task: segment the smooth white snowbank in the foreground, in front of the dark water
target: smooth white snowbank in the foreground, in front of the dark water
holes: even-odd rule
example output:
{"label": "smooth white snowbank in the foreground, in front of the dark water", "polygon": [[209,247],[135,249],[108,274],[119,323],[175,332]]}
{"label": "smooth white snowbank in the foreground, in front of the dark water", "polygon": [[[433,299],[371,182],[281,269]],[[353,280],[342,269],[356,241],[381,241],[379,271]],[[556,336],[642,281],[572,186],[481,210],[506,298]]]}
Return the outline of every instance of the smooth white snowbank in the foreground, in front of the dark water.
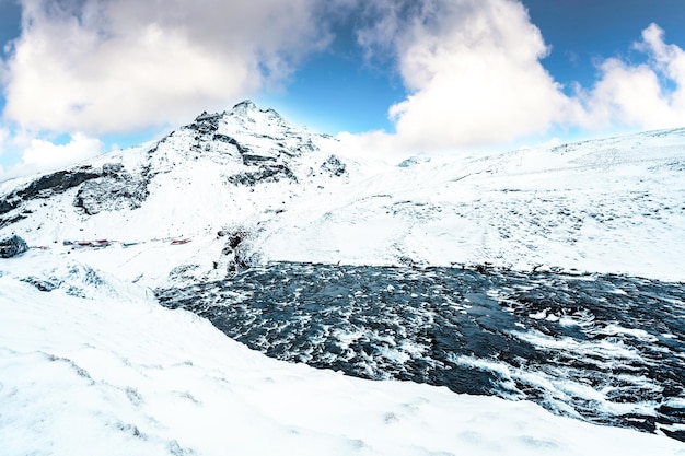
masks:
{"label": "smooth white snowbank in the foreground, in front of the dark water", "polygon": [[5,456],[685,454],[526,401],[269,360],[50,253],[0,262],[0,313]]}

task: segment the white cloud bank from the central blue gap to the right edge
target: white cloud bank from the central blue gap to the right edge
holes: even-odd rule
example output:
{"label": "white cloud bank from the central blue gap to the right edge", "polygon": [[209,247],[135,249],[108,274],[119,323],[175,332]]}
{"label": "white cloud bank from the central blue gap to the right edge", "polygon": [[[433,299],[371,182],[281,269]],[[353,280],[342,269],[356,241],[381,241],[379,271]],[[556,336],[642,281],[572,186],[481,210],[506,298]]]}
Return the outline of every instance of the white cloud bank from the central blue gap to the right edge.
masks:
{"label": "white cloud bank from the central blue gap to the right edge", "polygon": [[515,0],[385,0],[359,33],[370,55],[393,52],[409,95],[390,107],[396,133],[362,148],[439,150],[511,144],[555,127],[585,130],[685,124],[685,52],[650,25],[642,65],[600,62],[591,87],[567,95],[544,68],[549,52]]}

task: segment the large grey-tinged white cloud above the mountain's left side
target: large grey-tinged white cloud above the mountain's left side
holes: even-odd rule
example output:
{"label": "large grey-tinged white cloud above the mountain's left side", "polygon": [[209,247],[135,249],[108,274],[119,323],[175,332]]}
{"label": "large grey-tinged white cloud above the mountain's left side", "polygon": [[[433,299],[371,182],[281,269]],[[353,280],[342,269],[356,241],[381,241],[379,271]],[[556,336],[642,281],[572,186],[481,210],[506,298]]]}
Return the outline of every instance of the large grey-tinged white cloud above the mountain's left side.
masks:
{"label": "large grey-tinged white cloud above the mountain's left side", "polygon": [[316,0],[22,0],[4,118],[24,129],[139,130],[283,81],[328,34]]}

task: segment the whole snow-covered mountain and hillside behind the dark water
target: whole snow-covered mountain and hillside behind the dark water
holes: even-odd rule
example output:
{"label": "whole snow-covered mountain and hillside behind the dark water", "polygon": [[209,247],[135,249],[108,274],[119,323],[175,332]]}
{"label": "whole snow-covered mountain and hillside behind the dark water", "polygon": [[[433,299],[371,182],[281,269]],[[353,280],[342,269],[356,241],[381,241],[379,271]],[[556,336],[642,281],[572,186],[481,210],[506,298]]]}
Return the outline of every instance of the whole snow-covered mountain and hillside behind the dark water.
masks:
{"label": "whole snow-covered mountain and hillside behind the dark water", "polygon": [[0,195],[0,237],[106,239],[72,254],[151,285],[278,260],[685,279],[685,129],[387,163],[243,102]]}

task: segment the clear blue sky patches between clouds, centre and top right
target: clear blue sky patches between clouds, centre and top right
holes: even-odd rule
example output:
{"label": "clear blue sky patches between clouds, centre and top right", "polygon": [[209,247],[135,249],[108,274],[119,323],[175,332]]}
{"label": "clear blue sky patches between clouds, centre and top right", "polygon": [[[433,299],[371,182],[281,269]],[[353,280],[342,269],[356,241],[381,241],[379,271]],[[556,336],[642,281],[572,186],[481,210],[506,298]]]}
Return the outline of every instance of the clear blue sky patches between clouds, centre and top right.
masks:
{"label": "clear blue sky patches between clouds, centre and top right", "polygon": [[[664,28],[669,43],[685,48],[685,2],[681,0],[524,0],[523,4],[552,47],[544,67],[567,90],[574,81],[590,86],[597,75],[597,60],[623,56],[643,62],[645,56],[631,49],[631,44],[650,23]],[[353,32],[345,32],[330,49],[312,56],[298,70],[287,93],[265,95],[260,101],[329,133],[392,130],[387,107],[407,92],[393,68],[365,65]]]}

